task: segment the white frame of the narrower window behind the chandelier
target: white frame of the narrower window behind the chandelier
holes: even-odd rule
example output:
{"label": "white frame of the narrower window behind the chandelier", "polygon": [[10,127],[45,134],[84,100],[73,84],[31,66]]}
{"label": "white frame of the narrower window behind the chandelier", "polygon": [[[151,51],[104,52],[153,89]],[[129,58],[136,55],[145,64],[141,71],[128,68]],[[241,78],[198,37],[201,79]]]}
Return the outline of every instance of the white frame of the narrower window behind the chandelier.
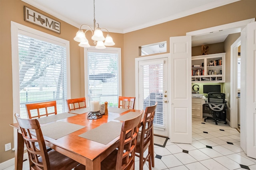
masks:
{"label": "white frame of the narrower window behind the chandelier", "polygon": [[[94,53],[118,53],[118,95],[122,96],[122,67],[121,67],[121,48],[106,47],[106,49],[95,49],[94,46],[84,48],[84,95],[87,97],[88,92],[88,51]],[[86,100],[88,102],[88,100]],[[89,106],[89,103],[88,103]]]}

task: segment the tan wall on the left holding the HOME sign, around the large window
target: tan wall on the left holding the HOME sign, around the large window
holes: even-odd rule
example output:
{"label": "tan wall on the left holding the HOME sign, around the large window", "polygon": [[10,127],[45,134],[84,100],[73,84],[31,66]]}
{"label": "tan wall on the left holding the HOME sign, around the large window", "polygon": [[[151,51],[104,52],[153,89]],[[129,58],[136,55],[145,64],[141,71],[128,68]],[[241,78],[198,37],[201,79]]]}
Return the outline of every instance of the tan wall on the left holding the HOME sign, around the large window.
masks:
{"label": "tan wall on the left holding the HOME sign, around the large window", "polygon": [[[24,21],[24,6],[28,6],[45,16],[60,21],[61,34]],[[84,96],[84,51],[73,38],[78,28],[46,14],[20,0],[0,0],[0,163],[14,157],[14,151],[4,151],[4,144],[13,143],[13,103],[12,103],[12,53],[10,21],[32,27],[56,37],[70,41],[71,98]],[[105,35],[106,33],[104,33]],[[123,34],[111,33],[114,47],[123,48]],[[93,44],[90,42],[90,44]]]}

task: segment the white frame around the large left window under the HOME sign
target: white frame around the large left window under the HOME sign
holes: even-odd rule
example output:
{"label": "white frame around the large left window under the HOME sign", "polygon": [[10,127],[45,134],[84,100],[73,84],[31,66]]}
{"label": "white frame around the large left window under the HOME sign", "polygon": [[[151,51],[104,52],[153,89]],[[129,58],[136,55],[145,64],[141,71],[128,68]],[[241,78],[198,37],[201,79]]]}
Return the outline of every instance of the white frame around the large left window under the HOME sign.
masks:
{"label": "white frame around the large left window under the HOME sign", "polygon": [[38,31],[25,25],[11,21],[11,42],[12,42],[12,92],[13,92],[13,122],[16,123],[15,113],[20,113],[20,92],[19,92],[19,51],[18,51],[18,34],[26,33],[30,35],[40,36],[41,40],[54,41],[64,44],[66,47],[66,71],[67,71],[67,98],[70,98],[70,45],[69,41],[55,37],[48,33]]}

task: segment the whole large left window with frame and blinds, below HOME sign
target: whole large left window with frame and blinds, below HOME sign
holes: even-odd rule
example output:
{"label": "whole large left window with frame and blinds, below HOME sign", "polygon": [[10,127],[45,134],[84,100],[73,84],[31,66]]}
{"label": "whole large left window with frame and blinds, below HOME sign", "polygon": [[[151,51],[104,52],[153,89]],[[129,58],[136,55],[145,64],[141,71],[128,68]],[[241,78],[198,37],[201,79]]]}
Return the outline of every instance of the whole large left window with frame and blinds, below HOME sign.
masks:
{"label": "whole large left window with frame and blinds, below HOME sign", "polygon": [[66,99],[70,96],[67,85],[69,44],[66,40],[63,43],[57,37],[54,39],[29,29],[13,30],[17,37],[12,37],[12,41],[16,41],[18,49],[18,55],[12,55],[14,95],[19,96],[16,110],[22,118],[27,118],[26,104],[56,100],[57,112],[63,113],[67,111]]}

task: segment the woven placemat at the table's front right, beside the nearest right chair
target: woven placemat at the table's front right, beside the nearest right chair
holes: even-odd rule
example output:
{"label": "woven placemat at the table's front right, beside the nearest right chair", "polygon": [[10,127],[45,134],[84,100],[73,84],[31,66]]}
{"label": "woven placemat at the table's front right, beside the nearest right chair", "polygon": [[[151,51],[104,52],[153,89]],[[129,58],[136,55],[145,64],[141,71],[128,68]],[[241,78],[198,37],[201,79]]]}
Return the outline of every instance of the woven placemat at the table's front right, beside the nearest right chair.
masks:
{"label": "woven placemat at the table's front right, beside the nearest right chair", "polygon": [[79,137],[107,145],[120,135],[121,128],[121,122],[110,121],[88,132],[82,133]]}

